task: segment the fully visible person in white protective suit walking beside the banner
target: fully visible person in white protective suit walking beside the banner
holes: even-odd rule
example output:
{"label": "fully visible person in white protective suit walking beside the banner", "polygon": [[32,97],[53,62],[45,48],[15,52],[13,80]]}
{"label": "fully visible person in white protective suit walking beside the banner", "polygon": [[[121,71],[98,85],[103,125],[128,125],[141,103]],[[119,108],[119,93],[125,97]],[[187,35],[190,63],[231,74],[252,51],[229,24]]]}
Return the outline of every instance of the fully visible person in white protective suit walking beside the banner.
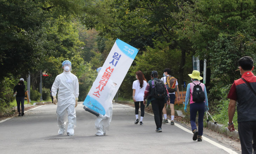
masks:
{"label": "fully visible person in white protective suit walking beside the banner", "polygon": [[63,135],[66,130],[66,122],[68,120],[67,135],[74,135],[74,127],[76,126],[75,107],[78,105],[79,83],[78,78],[72,74],[71,62],[65,60],[62,63],[63,73],[59,74],[52,86],[53,103],[56,105],[56,94],[58,91],[57,103],[57,120],[60,130],[59,135]]}

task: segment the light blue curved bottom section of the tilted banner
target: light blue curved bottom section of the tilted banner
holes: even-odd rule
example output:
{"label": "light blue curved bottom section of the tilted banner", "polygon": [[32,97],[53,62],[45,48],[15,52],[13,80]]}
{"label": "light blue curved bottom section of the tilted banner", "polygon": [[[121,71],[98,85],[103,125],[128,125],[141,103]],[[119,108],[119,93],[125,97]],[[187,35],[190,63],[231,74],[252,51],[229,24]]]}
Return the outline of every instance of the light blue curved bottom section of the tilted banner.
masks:
{"label": "light blue curved bottom section of the tilted banner", "polygon": [[83,105],[85,105],[86,107],[88,107],[96,112],[99,112],[103,116],[106,114],[106,111],[103,108],[103,106],[101,105],[101,103],[98,102],[95,98],[93,98],[90,95],[86,96],[85,101],[83,102]]}

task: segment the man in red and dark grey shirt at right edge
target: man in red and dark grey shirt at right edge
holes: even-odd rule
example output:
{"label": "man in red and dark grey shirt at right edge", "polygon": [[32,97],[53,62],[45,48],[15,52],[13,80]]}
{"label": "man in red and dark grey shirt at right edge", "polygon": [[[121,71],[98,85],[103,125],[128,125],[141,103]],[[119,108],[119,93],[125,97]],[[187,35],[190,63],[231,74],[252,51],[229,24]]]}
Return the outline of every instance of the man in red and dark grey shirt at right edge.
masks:
{"label": "man in red and dark grey shirt at right edge", "polygon": [[256,76],[252,73],[253,63],[252,58],[248,56],[238,60],[242,78],[234,81],[228,94],[228,129],[230,132],[235,131],[232,120],[237,107],[242,154],[256,154]]}

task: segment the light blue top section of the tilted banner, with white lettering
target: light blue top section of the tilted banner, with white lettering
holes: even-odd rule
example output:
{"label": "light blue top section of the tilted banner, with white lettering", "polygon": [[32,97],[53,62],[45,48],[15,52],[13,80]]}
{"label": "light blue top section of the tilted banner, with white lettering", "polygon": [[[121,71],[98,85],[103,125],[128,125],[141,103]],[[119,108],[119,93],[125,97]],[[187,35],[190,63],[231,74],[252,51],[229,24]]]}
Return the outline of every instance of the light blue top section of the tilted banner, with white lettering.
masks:
{"label": "light blue top section of the tilted banner, with white lettering", "polygon": [[[136,49],[135,47],[121,41],[120,39],[116,39],[116,45],[118,46],[118,48],[122,51],[122,53],[126,54],[126,56],[128,56],[129,58],[133,59],[136,57],[137,53],[138,53],[138,49]],[[114,56],[113,56],[114,58]],[[114,60],[114,59],[113,59]]]}

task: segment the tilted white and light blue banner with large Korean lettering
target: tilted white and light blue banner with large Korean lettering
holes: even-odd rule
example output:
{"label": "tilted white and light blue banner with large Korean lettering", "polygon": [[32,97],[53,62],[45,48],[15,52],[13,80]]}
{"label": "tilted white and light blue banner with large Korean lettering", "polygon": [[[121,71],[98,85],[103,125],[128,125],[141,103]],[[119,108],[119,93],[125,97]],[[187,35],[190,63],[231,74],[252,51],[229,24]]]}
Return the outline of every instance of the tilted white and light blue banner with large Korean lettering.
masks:
{"label": "tilted white and light blue banner with large Korean lettering", "polygon": [[138,51],[117,38],[83,105],[105,115]]}

